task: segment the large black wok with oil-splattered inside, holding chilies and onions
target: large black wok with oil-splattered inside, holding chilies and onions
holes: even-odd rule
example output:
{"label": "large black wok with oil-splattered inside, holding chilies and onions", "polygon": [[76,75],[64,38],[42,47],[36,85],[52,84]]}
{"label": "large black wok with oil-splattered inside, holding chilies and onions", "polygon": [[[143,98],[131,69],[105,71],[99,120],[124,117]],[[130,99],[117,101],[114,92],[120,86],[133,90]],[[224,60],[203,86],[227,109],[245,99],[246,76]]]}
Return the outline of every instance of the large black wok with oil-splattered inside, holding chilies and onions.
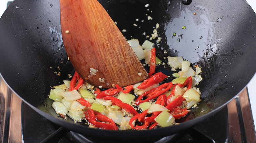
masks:
{"label": "large black wok with oil-splattered inside, holding chilies and onions", "polygon": [[[155,46],[157,56],[165,63],[164,57],[183,56],[192,65],[202,67],[203,81],[199,88],[203,101],[179,120],[180,124],[154,130],[99,130],[58,118],[47,95],[52,86],[62,84],[74,71],[61,38],[59,1],[15,0],[0,19],[1,75],[25,103],[60,126],[108,138],[171,135],[221,110],[255,74],[256,15],[244,0],[193,0],[190,5],[183,5],[180,0],[99,2],[118,28],[127,30],[124,36],[139,39],[140,44],[146,40],[142,33],[151,35],[154,26],[160,24],[158,32],[162,40]],[[146,4],[149,7],[145,8]],[[146,14],[153,19],[147,20]],[[59,72],[58,67],[60,76],[54,73]],[[158,71],[172,74],[169,68],[162,67]]]}

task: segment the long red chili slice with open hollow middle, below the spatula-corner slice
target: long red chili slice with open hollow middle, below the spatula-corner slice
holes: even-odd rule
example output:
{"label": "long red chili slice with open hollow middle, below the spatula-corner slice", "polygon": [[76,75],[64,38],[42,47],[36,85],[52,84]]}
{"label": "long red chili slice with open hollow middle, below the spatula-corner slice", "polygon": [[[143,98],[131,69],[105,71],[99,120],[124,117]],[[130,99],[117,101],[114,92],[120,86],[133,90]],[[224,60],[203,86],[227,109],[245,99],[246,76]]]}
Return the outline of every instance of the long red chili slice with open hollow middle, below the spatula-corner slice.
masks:
{"label": "long red chili slice with open hollow middle, below the spatula-corner slice", "polygon": [[[161,94],[163,94],[164,92],[168,91],[170,88],[172,87],[172,83],[164,83],[158,87],[152,88],[146,92],[144,92],[143,94],[141,94],[137,100],[135,101],[135,103],[137,105],[139,105],[140,103],[152,100],[157,98],[158,96],[160,96]],[[142,100],[143,97],[147,96],[148,98],[145,100]]]}

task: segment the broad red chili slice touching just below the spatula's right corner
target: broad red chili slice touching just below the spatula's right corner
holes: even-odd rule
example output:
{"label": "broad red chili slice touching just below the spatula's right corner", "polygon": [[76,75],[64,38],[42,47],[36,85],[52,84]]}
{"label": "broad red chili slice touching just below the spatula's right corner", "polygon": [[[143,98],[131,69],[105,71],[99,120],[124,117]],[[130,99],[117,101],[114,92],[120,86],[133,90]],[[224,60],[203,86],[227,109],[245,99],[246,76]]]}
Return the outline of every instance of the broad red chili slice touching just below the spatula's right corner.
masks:
{"label": "broad red chili slice touching just below the spatula's right corner", "polygon": [[148,79],[145,79],[137,88],[138,89],[146,89],[151,87],[154,84],[158,84],[163,81],[168,76],[163,74],[162,72],[155,73],[154,75],[150,76]]}

